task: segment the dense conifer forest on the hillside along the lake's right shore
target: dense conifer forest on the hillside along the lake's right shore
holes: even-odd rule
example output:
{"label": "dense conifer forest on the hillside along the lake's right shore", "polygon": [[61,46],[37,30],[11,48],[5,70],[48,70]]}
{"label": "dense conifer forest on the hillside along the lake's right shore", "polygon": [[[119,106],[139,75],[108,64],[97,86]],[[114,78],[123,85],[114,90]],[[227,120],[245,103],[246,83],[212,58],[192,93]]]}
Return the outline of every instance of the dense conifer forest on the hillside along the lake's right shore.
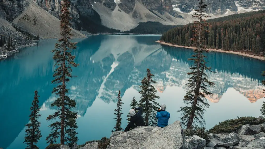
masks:
{"label": "dense conifer forest on the hillside along the lake's right shore", "polygon": [[[264,54],[265,10],[229,15],[207,20],[209,32],[203,32],[208,48],[231,51],[250,51]],[[161,41],[182,46],[193,46],[193,24],[180,25],[165,32]]]}

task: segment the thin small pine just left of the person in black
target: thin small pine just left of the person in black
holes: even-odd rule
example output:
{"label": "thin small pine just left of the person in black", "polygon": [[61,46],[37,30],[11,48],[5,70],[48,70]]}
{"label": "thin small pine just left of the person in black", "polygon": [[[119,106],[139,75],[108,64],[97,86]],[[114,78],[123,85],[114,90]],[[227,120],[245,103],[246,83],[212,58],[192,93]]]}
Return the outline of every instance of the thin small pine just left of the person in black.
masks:
{"label": "thin small pine just left of the person in black", "polygon": [[118,132],[118,131],[122,131],[123,129],[121,128],[121,115],[123,114],[122,111],[122,104],[123,102],[121,102],[121,91],[119,90],[119,94],[118,94],[118,102],[117,102],[117,109],[114,109],[115,111],[115,115],[116,118],[114,118],[116,120],[116,125],[114,126],[114,131],[112,130],[111,132]]}

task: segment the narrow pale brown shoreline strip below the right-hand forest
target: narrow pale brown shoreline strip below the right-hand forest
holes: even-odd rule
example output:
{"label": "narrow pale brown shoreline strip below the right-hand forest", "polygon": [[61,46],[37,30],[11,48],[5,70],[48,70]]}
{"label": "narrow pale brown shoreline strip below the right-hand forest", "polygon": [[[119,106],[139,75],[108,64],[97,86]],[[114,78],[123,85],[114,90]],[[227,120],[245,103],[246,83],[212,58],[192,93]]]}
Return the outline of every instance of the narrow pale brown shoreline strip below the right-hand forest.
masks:
{"label": "narrow pale brown shoreline strip below the right-hand forest", "polygon": [[[180,47],[180,48],[187,48],[187,49],[196,49],[195,47],[173,45],[172,43],[166,43],[166,42],[160,41],[160,40],[157,40],[156,42],[157,43],[160,43],[162,45],[168,45],[168,46],[171,46],[171,47]],[[216,49],[207,49],[207,50],[208,51],[213,51],[213,52],[223,52],[223,53],[237,54],[237,55],[246,56],[246,57],[249,57],[249,58],[254,58],[254,59],[258,59],[258,60],[265,61],[265,58],[262,57],[262,56],[250,55],[250,54],[243,53],[243,52],[224,51],[224,50],[220,50],[220,49],[219,50],[216,50]]]}

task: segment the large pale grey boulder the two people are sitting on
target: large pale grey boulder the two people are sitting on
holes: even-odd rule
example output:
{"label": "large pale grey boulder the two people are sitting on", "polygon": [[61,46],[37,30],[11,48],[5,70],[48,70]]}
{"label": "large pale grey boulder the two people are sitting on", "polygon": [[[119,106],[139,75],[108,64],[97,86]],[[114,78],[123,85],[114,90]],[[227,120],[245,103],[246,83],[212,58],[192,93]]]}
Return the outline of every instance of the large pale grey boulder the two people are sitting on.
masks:
{"label": "large pale grey boulder the two people are sitting on", "polygon": [[185,142],[180,121],[164,128],[157,126],[138,126],[133,130],[116,135],[109,140],[108,149],[151,149],[182,148]]}

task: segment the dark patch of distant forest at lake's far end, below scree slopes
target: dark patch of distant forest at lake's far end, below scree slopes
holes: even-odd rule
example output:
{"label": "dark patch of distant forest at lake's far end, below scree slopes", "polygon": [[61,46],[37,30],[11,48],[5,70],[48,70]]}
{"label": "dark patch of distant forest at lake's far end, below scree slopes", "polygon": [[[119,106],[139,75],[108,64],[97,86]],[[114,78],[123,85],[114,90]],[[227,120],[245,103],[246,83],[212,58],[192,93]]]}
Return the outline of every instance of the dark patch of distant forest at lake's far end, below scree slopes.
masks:
{"label": "dark patch of distant forest at lake's far end, below scree slopes", "polygon": [[125,31],[122,33],[134,33],[134,34],[162,34],[164,32],[166,32],[169,29],[172,29],[176,27],[175,25],[164,25],[162,23],[159,22],[152,22],[152,21],[148,21],[148,22],[144,22],[144,23],[139,23],[139,25],[134,28],[131,29],[129,31]]}

